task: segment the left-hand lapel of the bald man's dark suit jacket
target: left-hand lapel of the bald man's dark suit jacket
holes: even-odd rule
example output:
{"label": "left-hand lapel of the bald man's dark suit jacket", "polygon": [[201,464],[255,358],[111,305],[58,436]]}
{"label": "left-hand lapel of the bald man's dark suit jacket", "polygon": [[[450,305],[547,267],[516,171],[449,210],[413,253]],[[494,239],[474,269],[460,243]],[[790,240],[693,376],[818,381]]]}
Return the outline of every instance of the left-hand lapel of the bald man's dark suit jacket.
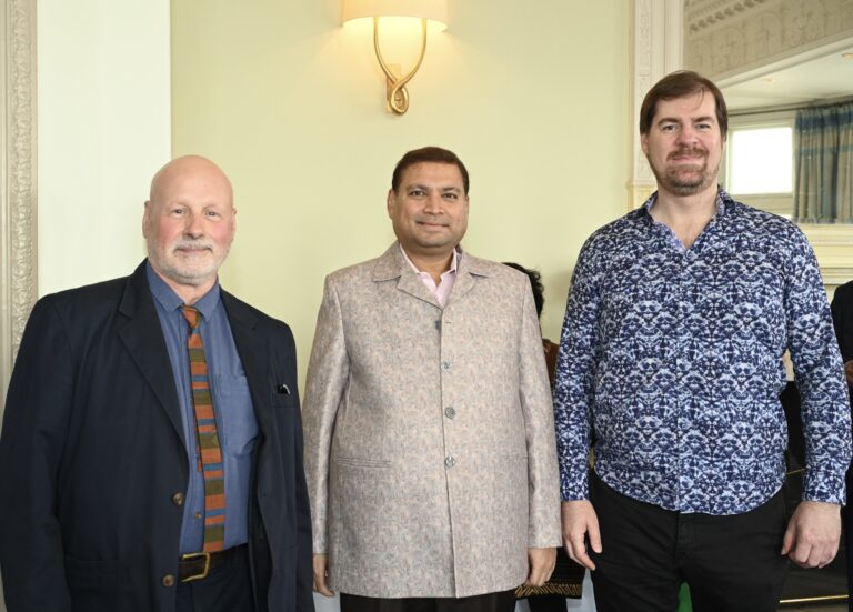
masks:
{"label": "left-hand lapel of the bald man's dark suit jacket", "polygon": [[128,279],[124,294],[119,303],[119,312],[128,318],[128,323],[119,331],[119,339],[157,395],[175,433],[185,447],[187,440],[183,435],[174,373],[145,273],[143,261]]}

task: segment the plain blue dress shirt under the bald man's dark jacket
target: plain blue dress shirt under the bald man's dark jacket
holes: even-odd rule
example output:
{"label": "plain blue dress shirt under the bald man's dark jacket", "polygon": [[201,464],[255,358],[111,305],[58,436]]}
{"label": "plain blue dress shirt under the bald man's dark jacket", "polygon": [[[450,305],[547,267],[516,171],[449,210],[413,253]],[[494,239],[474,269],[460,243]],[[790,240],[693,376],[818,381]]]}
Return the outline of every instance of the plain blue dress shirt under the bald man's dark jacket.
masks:
{"label": "plain blue dress shirt under the bald man's dark jacket", "polygon": [[[148,283],[154,297],[157,314],[163,329],[169,360],[172,363],[178,400],[181,404],[183,437],[190,482],[184,496],[180,552],[199,552],[204,539],[204,476],[198,469],[195,415],[190,391],[190,361],[187,353],[189,327],[183,318],[183,300],[148,264]],[[210,390],[217,431],[222,448],[225,471],[225,548],[249,540],[249,490],[252,454],[258,437],[249,383],[237,352],[228,313],[220,299],[219,281],[204,294],[195,308],[203,319],[200,333],[208,362]]]}

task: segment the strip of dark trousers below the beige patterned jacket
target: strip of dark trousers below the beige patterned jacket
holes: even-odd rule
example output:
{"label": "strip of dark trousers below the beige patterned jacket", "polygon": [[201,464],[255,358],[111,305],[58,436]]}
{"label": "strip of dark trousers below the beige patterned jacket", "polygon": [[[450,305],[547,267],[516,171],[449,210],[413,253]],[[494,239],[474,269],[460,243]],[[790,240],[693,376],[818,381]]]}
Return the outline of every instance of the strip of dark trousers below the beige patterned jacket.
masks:
{"label": "strip of dark trousers below the beige patterned jacket", "polygon": [[515,590],[471,598],[362,598],[341,593],[341,612],[512,612]]}

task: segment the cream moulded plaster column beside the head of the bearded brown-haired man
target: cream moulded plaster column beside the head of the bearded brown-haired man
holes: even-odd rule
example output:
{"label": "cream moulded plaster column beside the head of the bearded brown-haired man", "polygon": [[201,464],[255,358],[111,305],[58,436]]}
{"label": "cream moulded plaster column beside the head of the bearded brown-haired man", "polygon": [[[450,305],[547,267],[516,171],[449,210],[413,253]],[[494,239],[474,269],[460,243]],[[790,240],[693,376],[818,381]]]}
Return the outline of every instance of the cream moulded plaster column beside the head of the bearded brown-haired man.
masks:
{"label": "cream moulded plaster column beside the head of the bearded brown-haired man", "polygon": [[634,0],[631,32],[631,168],[629,210],[654,191],[654,175],[640,146],[638,122],[643,97],[663,76],[682,67],[683,0]]}

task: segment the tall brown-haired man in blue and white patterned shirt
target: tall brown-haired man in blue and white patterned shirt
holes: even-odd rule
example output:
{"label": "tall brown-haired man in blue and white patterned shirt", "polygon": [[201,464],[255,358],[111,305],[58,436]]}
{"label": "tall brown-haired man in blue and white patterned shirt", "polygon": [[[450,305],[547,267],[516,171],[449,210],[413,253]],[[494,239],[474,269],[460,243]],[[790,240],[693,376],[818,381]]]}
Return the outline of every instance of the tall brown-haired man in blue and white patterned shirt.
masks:
{"label": "tall brown-haired man in blue and white patterned shirt", "polygon": [[[839,546],[851,430],[826,294],[796,225],[717,187],[726,127],[711,81],[658,82],[640,118],[658,191],[574,270],[555,384],[563,539],[595,570],[600,612],[675,610],[682,581],[695,610],[775,611],[785,556],[823,566]],[[806,437],[790,521],[785,350]]]}

